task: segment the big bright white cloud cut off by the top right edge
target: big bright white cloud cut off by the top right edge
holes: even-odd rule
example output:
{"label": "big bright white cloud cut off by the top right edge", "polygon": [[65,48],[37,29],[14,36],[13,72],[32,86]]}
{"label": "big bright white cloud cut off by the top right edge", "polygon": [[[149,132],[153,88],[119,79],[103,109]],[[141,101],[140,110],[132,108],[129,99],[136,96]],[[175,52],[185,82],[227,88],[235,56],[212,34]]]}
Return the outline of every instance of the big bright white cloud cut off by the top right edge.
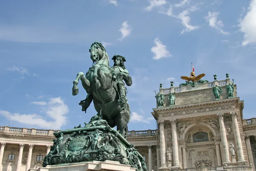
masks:
{"label": "big bright white cloud cut off by the top right edge", "polygon": [[250,2],[248,12],[239,23],[240,31],[244,33],[242,46],[256,43],[256,0]]}

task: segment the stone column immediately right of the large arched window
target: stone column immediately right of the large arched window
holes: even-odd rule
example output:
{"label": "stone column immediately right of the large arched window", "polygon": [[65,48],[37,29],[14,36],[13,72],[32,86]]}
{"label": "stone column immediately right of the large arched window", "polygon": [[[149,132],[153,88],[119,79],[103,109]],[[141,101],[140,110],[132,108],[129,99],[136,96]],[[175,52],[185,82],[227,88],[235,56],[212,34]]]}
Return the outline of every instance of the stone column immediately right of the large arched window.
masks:
{"label": "stone column immediately right of the large arched window", "polygon": [[229,149],[227,146],[227,135],[226,135],[223,117],[224,117],[223,114],[218,114],[218,120],[220,124],[220,133],[221,133],[221,143],[223,148],[223,163],[227,163],[227,162],[230,162],[230,159],[229,159]]}

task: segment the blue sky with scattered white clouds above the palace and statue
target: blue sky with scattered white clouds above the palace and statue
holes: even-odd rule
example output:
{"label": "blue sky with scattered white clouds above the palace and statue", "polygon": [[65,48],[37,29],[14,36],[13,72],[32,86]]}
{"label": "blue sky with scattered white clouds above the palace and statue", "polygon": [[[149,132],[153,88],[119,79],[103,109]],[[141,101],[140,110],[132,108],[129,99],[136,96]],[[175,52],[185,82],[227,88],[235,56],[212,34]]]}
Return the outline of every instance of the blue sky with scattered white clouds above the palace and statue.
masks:
{"label": "blue sky with scattered white clouds above the palace and statue", "polygon": [[[183,83],[190,63],[212,81],[235,79],[244,118],[255,117],[256,0],[20,0],[0,6],[0,125],[68,129],[96,114],[73,80],[89,48],[125,56],[133,84],[129,130],[155,129],[154,89]],[[113,65],[113,61],[110,61]]]}

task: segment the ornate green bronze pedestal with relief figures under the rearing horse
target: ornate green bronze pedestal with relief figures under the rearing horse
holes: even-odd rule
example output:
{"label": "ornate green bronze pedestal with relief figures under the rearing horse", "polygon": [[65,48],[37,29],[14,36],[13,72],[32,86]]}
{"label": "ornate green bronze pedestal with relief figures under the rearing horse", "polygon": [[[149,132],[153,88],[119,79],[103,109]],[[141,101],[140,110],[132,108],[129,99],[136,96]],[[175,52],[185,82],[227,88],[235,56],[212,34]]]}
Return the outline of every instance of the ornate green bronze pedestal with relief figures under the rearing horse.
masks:
{"label": "ornate green bronze pedestal with relief figures under the rearing horse", "polygon": [[147,171],[142,155],[118,131],[111,128],[101,115],[93,116],[84,127],[54,133],[56,140],[44,157],[43,167],[73,162],[112,160]]}

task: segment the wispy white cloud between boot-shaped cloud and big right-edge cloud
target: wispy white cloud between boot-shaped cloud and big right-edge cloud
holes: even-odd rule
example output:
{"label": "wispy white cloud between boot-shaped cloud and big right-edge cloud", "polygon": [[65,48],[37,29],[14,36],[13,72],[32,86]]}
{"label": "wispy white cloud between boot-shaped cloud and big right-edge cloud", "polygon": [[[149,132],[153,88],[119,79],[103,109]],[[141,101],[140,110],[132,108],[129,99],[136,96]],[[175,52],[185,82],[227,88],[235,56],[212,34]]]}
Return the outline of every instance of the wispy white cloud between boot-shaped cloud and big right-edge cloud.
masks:
{"label": "wispy white cloud between boot-shaped cloud and big right-edge cloud", "polygon": [[229,32],[224,31],[222,27],[224,26],[221,20],[217,20],[219,12],[208,12],[208,15],[205,16],[204,18],[206,19],[207,22],[209,22],[209,26],[212,28],[215,28],[218,30],[221,34],[229,34]]}

